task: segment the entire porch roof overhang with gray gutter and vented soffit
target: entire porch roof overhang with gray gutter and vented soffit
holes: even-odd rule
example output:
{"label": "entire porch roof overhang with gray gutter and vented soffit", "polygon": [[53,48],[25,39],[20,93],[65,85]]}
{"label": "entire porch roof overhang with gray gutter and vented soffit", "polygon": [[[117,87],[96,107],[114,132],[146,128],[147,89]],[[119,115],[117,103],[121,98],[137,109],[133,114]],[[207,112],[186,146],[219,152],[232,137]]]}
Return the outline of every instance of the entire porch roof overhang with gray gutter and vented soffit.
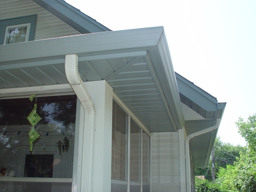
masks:
{"label": "entire porch roof overhang with gray gutter and vented soffit", "polygon": [[67,84],[65,55],[78,55],[84,82],[106,80],[150,132],[177,131],[185,121],[162,27],[0,45],[0,93]]}

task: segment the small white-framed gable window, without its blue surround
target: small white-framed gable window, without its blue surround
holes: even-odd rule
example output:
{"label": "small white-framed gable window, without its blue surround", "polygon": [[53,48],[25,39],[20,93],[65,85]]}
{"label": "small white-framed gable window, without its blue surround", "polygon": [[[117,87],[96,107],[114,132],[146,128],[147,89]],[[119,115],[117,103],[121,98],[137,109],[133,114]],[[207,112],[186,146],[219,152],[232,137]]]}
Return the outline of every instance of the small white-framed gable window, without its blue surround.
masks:
{"label": "small white-framed gable window, without its blue surround", "polygon": [[28,41],[29,28],[29,23],[6,27],[5,44],[21,43]]}

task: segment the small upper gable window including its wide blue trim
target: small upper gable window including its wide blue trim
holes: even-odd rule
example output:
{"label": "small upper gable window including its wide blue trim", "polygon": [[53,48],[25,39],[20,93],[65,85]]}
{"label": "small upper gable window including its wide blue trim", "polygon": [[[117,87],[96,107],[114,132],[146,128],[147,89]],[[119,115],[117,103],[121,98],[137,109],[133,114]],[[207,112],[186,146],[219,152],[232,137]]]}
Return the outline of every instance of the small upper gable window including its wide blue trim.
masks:
{"label": "small upper gable window including its wide blue trim", "polygon": [[0,44],[33,41],[36,15],[0,20]]}

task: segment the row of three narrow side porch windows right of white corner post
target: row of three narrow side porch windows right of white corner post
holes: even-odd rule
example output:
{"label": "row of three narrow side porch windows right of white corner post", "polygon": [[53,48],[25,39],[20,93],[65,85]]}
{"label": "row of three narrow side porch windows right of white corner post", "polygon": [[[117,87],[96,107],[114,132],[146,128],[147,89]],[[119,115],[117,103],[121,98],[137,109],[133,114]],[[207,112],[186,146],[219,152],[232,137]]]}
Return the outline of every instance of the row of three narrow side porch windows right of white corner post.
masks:
{"label": "row of three narrow side porch windows right of white corner post", "polygon": [[111,192],[149,192],[150,138],[115,101],[112,117]]}

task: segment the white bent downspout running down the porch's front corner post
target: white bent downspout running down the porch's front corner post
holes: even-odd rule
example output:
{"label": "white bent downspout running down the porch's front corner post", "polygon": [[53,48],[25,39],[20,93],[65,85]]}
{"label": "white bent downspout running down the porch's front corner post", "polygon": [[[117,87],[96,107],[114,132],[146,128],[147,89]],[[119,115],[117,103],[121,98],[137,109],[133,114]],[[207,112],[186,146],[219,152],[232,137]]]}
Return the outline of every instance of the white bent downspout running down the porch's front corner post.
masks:
{"label": "white bent downspout running down the porch's front corner post", "polygon": [[[78,100],[84,108],[83,146],[81,164],[80,191],[91,192],[92,184],[92,143],[95,129],[95,106],[78,72],[78,56],[66,55],[65,72],[68,83],[76,93]],[[79,155],[79,154],[78,154]]]}

